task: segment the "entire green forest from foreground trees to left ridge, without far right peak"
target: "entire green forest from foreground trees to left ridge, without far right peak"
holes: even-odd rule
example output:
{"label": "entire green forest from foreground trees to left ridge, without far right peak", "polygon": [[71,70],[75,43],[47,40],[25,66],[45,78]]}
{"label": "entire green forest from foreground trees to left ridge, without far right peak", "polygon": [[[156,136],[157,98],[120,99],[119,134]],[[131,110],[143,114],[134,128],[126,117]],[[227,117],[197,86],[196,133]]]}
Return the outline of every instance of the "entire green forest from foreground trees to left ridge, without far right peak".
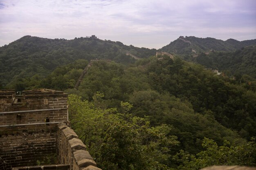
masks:
{"label": "entire green forest from foreground trees to left ridge, without far right peak", "polygon": [[172,59],[110,40],[25,36],[0,47],[0,88],[68,93],[71,126],[102,170],[256,166],[256,49],[243,43]]}

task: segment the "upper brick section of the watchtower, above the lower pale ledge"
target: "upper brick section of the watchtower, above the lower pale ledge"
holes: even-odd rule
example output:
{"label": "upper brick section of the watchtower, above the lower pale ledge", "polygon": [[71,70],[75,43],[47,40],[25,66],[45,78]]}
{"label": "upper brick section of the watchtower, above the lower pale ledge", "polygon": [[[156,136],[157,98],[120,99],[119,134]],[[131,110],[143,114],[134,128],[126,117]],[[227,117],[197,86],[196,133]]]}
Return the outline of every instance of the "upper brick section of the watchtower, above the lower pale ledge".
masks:
{"label": "upper brick section of the watchtower, above the lower pale ledge", "polygon": [[67,94],[33,89],[17,93],[0,91],[0,126],[67,122]]}

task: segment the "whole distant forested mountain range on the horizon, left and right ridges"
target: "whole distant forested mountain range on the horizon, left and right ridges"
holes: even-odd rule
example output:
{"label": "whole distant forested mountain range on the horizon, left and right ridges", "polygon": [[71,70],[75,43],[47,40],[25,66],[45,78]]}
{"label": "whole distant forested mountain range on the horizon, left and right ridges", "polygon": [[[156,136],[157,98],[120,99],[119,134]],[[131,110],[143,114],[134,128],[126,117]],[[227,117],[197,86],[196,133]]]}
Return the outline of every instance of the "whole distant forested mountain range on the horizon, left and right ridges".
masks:
{"label": "whole distant forested mountain range on the horizon, left and right ridges", "polygon": [[[211,59],[211,54],[214,51],[235,51],[243,46],[256,44],[256,40],[237,41],[229,39],[226,41],[216,40],[214,38],[196,38],[196,37],[180,37],[164,46],[162,51],[176,53],[181,55],[185,60],[198,62],[208,68],[218,68],[221,71],[228,71],[233,74],[236,68],[232,60],[226,60],[228,65],[226,69],[223,63],[217,64]],[[250,49],[249,49],[250,50]],[[39,75],[45,77],[49,75],[54,68],[62,66],[78,59],[108,59],[116,62],[131,63],[135,59],[150,57],[155,55],[156,49],[138,48],[135,46],[126,46],[121,42],[112,42],[110,40],[100,40],[96,37],[75,38],[74,40],[65,39],[47,39],[31,37],[29,35],[20,38],[9,45],[0,47],[0,86],[13,86],[16,82],[25,77]],[[244,51],[244,50],[242,50]],[[127,54],[131,54],[131,57]],[[209,54],[209,60],[203,57],[204,54]],[[216,53],[214,53],[216,54]],[[218,53],[220,56],[231,55],[231,53]],[[192,57],[192,56],[199,56]],[[229,57],[227,57],[229,58]],[[200,60],[204,61],[200,61]],[[225,60],[220,59],[219,61]],[[249,60],[248,60],[249,61]],[[247,63],[253,64],[254,62]],[[213,65],[211,65],[213,64]],[[222,66],[220,66],[222,65]],[[240,70],[239,75],[244,73],[253,73],[253,68],[247,67],[243,63],[243,71]],[[229,68],[231,70],[229,70]],[[250,71],[247,71],[250,68]],[[255,68],[255,67],[254,67]],[[254,77],[254,76],[252,76]]]}

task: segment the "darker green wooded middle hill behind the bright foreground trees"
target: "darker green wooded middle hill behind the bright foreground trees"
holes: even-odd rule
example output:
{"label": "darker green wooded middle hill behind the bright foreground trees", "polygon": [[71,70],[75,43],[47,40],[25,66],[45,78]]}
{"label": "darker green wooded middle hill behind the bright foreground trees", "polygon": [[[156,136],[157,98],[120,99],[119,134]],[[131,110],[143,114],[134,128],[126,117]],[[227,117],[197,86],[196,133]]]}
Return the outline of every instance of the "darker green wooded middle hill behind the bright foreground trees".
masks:
{"label": "darker green wooded middle hill behind the bright foreground trees", "polygon": [[[176,151],[200,152],[204,137],[221,145],[225,139],[244,141],[255,136],[255,92],[180,59],[152,58],[136,64],[126,68],[97,62],[79,91],[70,93],[96,102],[101,109],[118,108],[120,113],[126,112],[124,103],[129,102],[130,113],[149,120],[151,126],[173,126],[171,134],[181,142]],[[97,92],[104,93],[100,101],[93,99]]]}

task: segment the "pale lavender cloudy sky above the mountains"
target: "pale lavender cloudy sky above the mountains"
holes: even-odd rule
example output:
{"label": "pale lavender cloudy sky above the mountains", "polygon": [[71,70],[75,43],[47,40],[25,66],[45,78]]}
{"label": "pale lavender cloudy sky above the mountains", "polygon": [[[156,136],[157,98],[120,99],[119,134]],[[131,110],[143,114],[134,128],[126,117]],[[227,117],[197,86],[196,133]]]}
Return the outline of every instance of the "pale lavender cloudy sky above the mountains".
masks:
{"label": "pale lavender cloudy sky above the mountains", "polygon": [[86,37],[159,49],[179,36],[256,39],[256,0],[0,0],[0,46]]}

